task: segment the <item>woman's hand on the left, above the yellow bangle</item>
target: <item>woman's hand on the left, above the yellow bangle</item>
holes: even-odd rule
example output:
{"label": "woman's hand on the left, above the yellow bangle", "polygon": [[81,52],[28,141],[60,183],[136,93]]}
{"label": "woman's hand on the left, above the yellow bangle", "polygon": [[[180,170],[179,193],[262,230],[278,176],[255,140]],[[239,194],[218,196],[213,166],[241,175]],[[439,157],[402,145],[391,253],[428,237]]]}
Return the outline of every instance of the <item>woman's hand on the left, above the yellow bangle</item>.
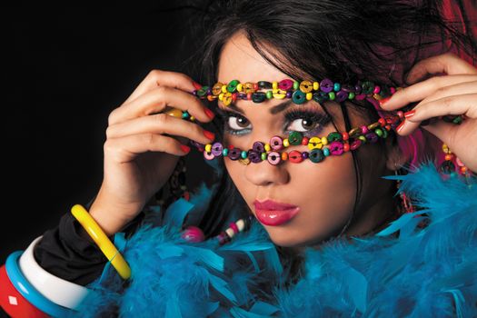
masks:
{"label": "woman's hand on the left, above the yellow bangle", "polygon": [[179,156],[190,151],[184,145],[188,139],[201,144],[214,140],[214,134],[198,124],[162,113],[172,106],[188,111],[200,122],[210,122],[212,111],[187,93],[195,89],[193,83],[187,75],[154,70],[109,115],[104,179],[90,208],[107,235],[134,219],[166,183]]}

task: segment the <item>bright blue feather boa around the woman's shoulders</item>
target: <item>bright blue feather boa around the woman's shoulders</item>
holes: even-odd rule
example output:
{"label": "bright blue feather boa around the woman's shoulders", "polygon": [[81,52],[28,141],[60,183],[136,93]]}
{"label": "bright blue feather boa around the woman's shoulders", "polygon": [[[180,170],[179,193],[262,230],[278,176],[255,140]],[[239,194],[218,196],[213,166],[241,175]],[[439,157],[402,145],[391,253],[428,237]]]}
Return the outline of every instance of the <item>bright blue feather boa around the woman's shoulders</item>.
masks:
{"label": "bright blue feather boa around the woman's shoulders", "polygon": [[[401,179],[400,191],[423,209],[379,234],[305,249],[303,276],[287,287],[289,272],[256,221],[223,246],[180,237],[185,215],[201,215],[208,205],[214,189],[203,184],[190,202],[179,200],[164,213],[152,207],[131,238],[115,235],[131,279],[124,283],[106,264],[73,315],[477,316],[477,182],[457,175],[444,180],[433,164],[384,178]],[[429,224],[422,228],[422,221]]]}

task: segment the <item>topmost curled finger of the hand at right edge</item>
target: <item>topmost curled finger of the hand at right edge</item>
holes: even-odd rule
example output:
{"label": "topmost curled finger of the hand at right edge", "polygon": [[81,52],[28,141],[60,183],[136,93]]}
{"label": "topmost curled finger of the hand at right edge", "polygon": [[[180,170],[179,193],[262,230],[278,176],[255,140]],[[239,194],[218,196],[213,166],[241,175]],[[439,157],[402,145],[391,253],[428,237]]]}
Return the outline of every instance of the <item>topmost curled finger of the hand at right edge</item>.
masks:
{"label": "topmost curled finger of the hand at right edge", "polygon": [[452,53],[426,58],[414,65],[406,77],[406,83],[412,84],[426,75],[445,73],[447,75],[477,74],[477,69]]}

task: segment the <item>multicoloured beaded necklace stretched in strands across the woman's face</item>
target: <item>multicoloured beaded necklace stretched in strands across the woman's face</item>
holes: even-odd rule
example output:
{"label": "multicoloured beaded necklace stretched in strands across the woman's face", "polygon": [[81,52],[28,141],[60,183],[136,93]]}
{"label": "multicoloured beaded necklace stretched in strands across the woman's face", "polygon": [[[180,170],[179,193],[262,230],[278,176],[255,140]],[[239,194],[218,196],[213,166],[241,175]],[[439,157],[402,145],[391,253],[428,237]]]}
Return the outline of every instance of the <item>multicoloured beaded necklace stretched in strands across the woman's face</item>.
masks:
{"label": "multicoloured beaded necklace stretched in strands across the woman's face", "polygon": [[[233,80],[228,84],[216,83],[212,86],[197,87],[192,92],[200,99],[207,99],[212,102],[219,99],[225,106],[235,102],[237,99],[253,101],[253,103],[263,103],[272,98],[283,99],[292,98],[294,104],[304,104],[307,101],[315,101],[322,104],[326,101],[336,101],[338,103],[345,100],[364,100],[372,98],[380,101],[390,97],[401,87],[389,85],[378,85],[372,81],[358,81],[356,84],[340,84],[325,78],[320,82],[311,81],[293,81],[283,79],[280,82],[259,81],[258,83],[245,82],[240,83]],[[363,144],[376,143],[380,138],[386,138],[392,129],[394,130],[405,118],[402,111],[386,112],[383,117],[368,125],[354,127],[349,132],[332,132],[327,136],[313,136],[308,138],[301,132],[292,131],[287,138],[274,135],[268,143],[260,141],[254,142],[251,149],[242,150],[233,144],[225,146],[220,142],[212,144],[199,144],[190,141],[195,148],[204,154],[206,160],[213,160],[217,157],[228,157],[241,164],[258,164],[267,161],[269,164],[280,164],[291,162],[293,164],[302,163],[308,159],[313,164],[322,162],[326,157],[332,155],[342,155],[354,151]],[[194,121],[194,116],[178,109],[171,109],[166,114],[185,120]],[[461,124],[463,117],[461,115],[442,116],[442,120]],[[310,151],[300,152],[292,150],[286,152],[285,149],[293,145],[306,145]],[[452,154],[452,151],[446,144],[442,144],[442,151],[445,153],[445,160],[440,166],[442,174],[464,175],[467,179],[471,177],[472,172],[462,164],[462,161]],[[455,164],[452,163],[455,161]],[[455,165],[459,168],[456,169]],[[230,242],[235,234],[246,231],[250,227],[252,215],[229,224],[229,227],[221,234],[215,236],[220,244]],[[189,226],[183,232],[183,237],[190,242],[204,241],[204,233],[196,226]]]}

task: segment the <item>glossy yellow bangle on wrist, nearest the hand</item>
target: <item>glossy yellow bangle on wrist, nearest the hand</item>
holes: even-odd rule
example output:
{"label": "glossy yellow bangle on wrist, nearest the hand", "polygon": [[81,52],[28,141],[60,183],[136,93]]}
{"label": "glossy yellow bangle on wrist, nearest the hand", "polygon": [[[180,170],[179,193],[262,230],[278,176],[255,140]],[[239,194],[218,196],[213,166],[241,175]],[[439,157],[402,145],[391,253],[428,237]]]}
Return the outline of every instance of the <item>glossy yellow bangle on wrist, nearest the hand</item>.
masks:
{"label": "glossy yellow bangle on wrist, nearest the hand", "polygon": [[123,279],[128,279],[131,276],[131,268],[124,260],[123,255],[121,255],[114,246],[114,243],[111,242],[101,227],[94,221],[91,214],[89,214],[81,204],[75,204],[71,208],[71,213],[91,236],[94,243],[98,245],[101,252],[103,252],[109,262],[111,262],[117,273],[119,273]]}

